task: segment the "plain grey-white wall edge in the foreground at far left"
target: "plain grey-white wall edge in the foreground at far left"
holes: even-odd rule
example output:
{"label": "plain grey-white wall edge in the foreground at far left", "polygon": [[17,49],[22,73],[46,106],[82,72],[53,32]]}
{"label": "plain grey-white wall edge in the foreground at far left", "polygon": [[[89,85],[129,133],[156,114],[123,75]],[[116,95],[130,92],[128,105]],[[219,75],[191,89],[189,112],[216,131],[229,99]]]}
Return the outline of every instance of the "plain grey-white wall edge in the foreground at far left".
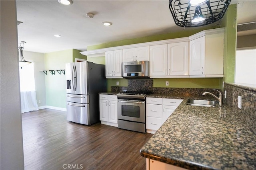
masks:
{"label": "plain grey-white wall edge in the foreground at far left", "polygon": [[1,170],[24,169],[16,1],[0,1]]}

